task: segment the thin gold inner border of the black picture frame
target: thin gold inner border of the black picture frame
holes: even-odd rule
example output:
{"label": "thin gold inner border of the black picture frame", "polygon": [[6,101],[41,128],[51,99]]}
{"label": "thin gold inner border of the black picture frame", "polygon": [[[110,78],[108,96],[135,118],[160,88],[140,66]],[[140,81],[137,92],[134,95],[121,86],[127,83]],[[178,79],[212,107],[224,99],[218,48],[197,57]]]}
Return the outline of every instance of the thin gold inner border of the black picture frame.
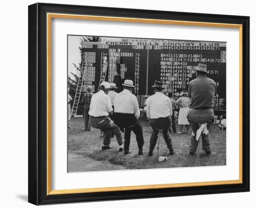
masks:
{"label": "thin gold inner border of the black picture frame", "polygon": [[[231,181],[207,181],[207,182],[189,182],[189,183],[173,183],[173,184],[152,184],[142,186],[124,186],[124,187],[104,187],[104,188],[81,188],[67,190],[52,190],[52,170],[51,170],[51,34],[52,19],[76,19],[76,20],[100,20],[100,21],[122,21],[136,23],[153,23],[153,24],[171,24],[184,26],[204,26],[204,27],[228,27],[239,28],[239,180]],[[47,195],[60,194],[78,194],[93,193],[107,191],[123,191],[123,190],[143,190],[152,188],[178,188],[178,187],[195,187],[209,185],[239,184],[243,183],[243,25],[225,24],[212,22],[195,22],[195,21],[178,21],[178,20],[157,20],[157,19],[140,19],[140,18],[123,18],[108,16],[92,16],[92,15],[75,15],[63,13],[47,13]]]}

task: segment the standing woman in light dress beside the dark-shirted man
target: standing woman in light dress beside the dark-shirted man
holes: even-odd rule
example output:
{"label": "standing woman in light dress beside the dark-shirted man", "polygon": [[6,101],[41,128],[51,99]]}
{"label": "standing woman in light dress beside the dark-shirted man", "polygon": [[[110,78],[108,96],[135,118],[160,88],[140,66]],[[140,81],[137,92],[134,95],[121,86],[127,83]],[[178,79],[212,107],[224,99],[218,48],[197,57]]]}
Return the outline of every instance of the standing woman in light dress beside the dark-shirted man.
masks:
{"label": "standing woman in light dress beside the dark-shirted man", "polygon": [[180,93],[180,98],[175,102],[176,105],[180,106],[180,111],[179,111],[179,117],[178,117],[178,124],[181,125],[180,131],[178,134],[182,133],[182,128],[183,125],[187,127],[187,133],[189,132],[189,121],[187,119],[187,115],[189,112],[189,98],[187,98],[187,92],[186,90],[182,90]]}

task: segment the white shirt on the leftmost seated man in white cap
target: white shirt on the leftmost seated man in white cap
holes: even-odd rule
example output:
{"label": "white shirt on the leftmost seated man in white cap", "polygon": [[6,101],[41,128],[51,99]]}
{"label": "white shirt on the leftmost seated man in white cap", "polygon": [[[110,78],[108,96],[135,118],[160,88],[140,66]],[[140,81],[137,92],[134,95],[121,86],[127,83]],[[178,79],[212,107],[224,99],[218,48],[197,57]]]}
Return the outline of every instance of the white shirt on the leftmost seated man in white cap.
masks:
{"label": "white shirt on the leftmost seated man in white cap", "polygon": [[103,90],[92,96],[89,115],[93,117],[108,116],[113,110],[110,98]]}

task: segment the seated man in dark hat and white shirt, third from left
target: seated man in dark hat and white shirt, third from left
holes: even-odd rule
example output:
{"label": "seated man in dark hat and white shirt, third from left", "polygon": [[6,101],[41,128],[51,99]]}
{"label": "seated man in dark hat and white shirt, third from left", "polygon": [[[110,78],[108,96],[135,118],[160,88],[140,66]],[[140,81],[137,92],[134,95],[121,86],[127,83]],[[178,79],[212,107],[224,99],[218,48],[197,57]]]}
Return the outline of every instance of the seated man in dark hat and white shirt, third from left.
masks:
{"label": "seated man in dark hat and white shirt, third from left", "polygon": [[170,154],[174,154],[171,137],[168,134],[168,128],[171,125],[172,103],[170,99],[162,94],[164,89],[163,82],[156,80],[154,87],[155,94],[151,95],[147,100],[147,117],[152,127],[148,156],[153,155],[156,141],[158,139],[159,129],[162,129],[163,138],[167,144]]}

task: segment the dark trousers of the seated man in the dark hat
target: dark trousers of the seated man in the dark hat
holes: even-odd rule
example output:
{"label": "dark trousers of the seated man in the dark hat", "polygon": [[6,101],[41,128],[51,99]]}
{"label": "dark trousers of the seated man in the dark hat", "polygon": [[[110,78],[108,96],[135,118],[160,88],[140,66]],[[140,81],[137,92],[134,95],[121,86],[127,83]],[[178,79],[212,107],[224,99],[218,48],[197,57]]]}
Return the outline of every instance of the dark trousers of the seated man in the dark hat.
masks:
{"label": "dark trousers of the seated man in the dark hat", "polygon": [[152,153],[155,148],[155,144],[156,144],[156,141],[158,139],[158,134],[159,134],[158,129],[163,129],[162,133],[163,133],[164,141],[167,145],[167,148],[169,150],[172,150],[173,149],[172,141],[171,141],[170,134],[168,134],[168,128],[171,125],[170,116],[168,116],[166,118],[149,119],[149,124],[152,127],[152,133],[151,133],[150,144],[149,144],[149,152]]}

